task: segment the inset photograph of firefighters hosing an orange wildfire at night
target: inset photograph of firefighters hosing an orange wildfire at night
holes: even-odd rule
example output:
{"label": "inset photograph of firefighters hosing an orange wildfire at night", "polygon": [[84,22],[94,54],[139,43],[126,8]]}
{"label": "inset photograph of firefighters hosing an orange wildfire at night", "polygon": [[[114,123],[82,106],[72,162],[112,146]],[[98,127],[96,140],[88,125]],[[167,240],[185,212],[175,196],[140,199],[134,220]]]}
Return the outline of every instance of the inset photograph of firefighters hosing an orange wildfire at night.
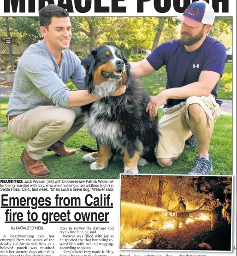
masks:
{"label": "inset photograph of firefighters hosing an orange wildfire at night", "polygon": [[231,251],[231,176],[121,175],[120,249]]}

